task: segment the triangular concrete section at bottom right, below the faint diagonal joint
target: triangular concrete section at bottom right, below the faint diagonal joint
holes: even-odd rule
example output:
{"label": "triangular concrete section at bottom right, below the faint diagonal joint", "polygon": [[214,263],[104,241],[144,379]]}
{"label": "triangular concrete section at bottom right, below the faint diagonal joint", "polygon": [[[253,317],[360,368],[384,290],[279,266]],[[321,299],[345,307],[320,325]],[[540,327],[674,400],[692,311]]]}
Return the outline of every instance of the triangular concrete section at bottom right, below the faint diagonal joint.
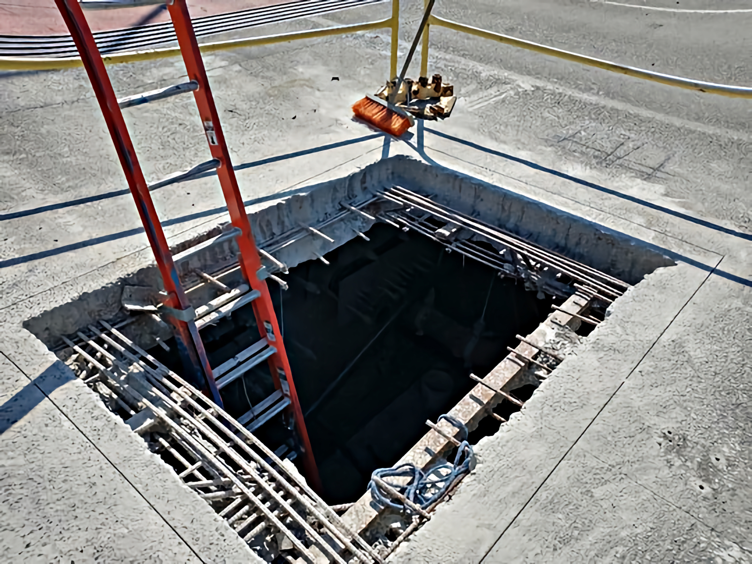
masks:
{"label": "triangular concrete section at bottom right, below the faint diagonal joint", "polygon": [[750,553],[660,491],[577,450],[483,562],[750,562]]}

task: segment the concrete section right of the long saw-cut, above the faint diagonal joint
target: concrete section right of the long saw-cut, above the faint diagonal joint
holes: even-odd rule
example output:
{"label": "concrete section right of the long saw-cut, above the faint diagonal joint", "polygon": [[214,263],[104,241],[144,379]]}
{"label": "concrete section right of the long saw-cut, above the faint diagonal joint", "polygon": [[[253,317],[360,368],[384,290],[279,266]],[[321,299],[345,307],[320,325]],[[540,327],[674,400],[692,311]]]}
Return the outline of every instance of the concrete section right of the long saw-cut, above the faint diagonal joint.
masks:
{"label": "concrete section right of the long saw-cut, above the faint diagonal joint", "polygon": [[750,296],[711,274],[578,447],[752,555]]}

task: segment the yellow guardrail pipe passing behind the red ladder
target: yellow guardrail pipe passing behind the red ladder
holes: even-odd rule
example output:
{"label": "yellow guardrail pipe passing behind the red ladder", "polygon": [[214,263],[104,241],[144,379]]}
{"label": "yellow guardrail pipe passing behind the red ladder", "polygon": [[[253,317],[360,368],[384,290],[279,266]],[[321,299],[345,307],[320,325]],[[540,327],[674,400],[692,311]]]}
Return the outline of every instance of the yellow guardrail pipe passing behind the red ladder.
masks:
{"label": "yellow guardrail pipe passing behind the red ladder", "polygon": [[[375,22],[354,23],[349,26],[325,27],[322,29],[308,29],[305,32],[280,33],[278,35],[261,35],[259,37],[230,39],[229,41],[217,41],[205,43],[199,46],[202,53],[238,49],[240,47],[256,47],[256,45],[271,45],[296,41],[299,39],[314,39],[329,35],[346,35],[348,33],[367,32],[371,29],[394,29],[392,18]],[[164,49],[149,49],[132,53],[117,53],[102,56],[106,65],[117,65],[123,62],[150,61],[165,57],[179,56],[180,49],[167,47]],[[0,57],[0,71],[56,71],[62,68],[75,68],[82,66],[80,57],[33,59],[31,57]]]}

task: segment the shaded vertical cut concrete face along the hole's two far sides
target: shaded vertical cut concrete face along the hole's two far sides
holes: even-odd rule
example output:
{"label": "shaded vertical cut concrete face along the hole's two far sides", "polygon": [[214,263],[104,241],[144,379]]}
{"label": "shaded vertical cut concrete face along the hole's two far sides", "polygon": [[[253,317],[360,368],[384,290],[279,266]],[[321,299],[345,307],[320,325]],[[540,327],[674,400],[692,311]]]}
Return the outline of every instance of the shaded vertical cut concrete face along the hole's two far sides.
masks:
{"label": "shaded vertical cut concrete face along the hole's two far sides", "polygon": [[[253,235],[260,248],[277,243],[274,256],[293,268],[302,262],[325,255],[368,230],[372,222],[360,214],[344,214],[326,225],[331,242],[313,234],[285,238],[302,231],[300,225],[320,225],[347,211],[341,202],[358,205],[378,196],[378,191],[403,184],[424,196],[431,196],[459,211],[471,214],[509,232],[528,238],[547,249],[566,254],[589,265],[636,284],[645,274],[660,266],[674,265],[670,251],[629,237],[614,229],[584,220],[559,208],[530,199],[511,190],[487,183],[449,168],[427,165],[409,156],[393,156],[367,165],[346,177],[305,187],[300,193],[249,209]],[[199,235],[186,236],[174,245],[183,252],[217,236],[229,224],[221,222]],[[235,241],[210,245],[178,265],[183,282],[202,284],[194,273],[218,271],[236,262]],[[151,265],[120,277],[99,290],[81,294],[77,299],[45,311],[23,322],[23,326],[48,347],[62,344],[59,335],[71,335],[77,329],[98,320],[114,320],[121,315],[120,297],[125,286],[143,286],[159,290],[159,271]]]}

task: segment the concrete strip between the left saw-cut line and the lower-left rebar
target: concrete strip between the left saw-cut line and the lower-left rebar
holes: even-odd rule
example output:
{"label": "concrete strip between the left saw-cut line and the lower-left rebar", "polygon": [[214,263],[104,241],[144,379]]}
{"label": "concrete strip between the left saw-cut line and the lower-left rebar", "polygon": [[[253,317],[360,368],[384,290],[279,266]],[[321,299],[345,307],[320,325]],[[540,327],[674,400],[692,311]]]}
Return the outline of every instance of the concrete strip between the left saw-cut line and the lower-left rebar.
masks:
{"label": "concrete strip between the left saw-cut line and the lower-left rebar", "polygon": [[0,329],[5,356],[53,402],[204,562],[263,562],[144,440],[26,331]]}

